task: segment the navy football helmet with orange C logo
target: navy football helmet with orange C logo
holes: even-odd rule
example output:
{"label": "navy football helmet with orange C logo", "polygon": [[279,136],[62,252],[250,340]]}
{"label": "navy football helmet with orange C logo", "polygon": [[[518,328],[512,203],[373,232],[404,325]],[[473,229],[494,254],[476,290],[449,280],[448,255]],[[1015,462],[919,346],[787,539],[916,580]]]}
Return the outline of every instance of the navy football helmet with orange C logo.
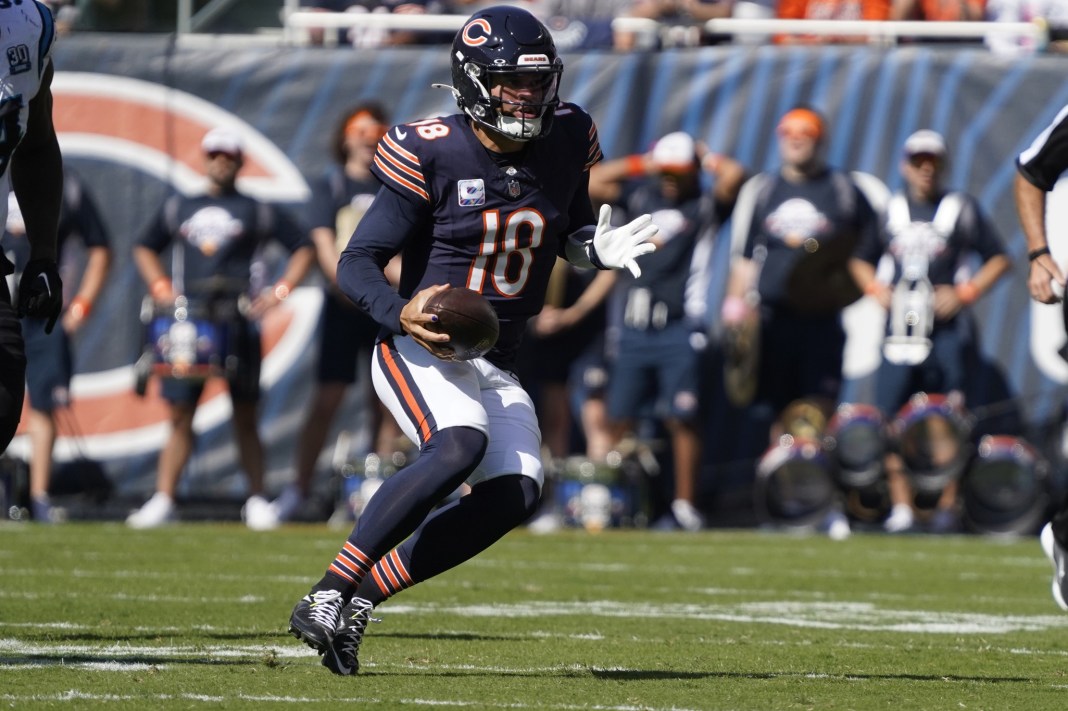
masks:
{"label": "navy football helmet with orange C logo", "polygon": [[[473,121],[514,141],[549,133],[564,63],[549,30],[529,12],[499,5],[472,15],[453,40],[452,66],[456,104]],[[507,101],[515,109],[503,110],[498,85],[531,100]]]}

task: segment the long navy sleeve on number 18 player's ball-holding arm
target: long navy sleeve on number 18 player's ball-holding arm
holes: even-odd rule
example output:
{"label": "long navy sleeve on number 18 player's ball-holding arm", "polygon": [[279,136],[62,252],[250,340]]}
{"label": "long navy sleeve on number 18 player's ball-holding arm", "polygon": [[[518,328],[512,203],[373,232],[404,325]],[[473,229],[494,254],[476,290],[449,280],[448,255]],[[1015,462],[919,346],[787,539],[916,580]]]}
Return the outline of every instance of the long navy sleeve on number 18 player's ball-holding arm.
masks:
{"label": "long navy sleeve on number 18 player's ball-holding arm", "polygon": [[397,294],[386,279],[386,265],[424,228],[427,207],[405,200],[389,188],[379,189],[337,262],[337,286],[342,293],[394,333],[404,333],[400,310],[408,299]]}

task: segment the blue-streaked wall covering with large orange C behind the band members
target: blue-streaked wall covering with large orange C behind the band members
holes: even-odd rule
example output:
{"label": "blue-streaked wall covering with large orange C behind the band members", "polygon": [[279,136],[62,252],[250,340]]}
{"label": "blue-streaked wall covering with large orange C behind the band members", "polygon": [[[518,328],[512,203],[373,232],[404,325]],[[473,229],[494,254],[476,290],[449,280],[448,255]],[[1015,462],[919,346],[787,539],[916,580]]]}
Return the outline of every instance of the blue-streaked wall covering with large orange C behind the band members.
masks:
{"label": "blue-streaked wall covering with large orange C behind the band members", "polygon": [[[804,102],[830,120],[828,156],[833,164],[870,173],[896,189],[901,185],[897,167],[905,138],[917,128],[941,131],[952,156],[949,185],[978,196],[1015,260],[1009,278],[977,307],[983,350],[1026,422],[1035,425],[1059,416],[1065,380],[1036,367],[1030,347],[1026,258],[1011,185],[1015,156],[1068,102],[1065,59],[1004,59],[981,49],[938,46],[747,45],[651,53],[594,51],[566,56],[565,62],[562,96],[593,114],[608,157],[643,151],[657,137],[682,129],[752,170],[771,169],[776,164],[775,122]],[[64,438],[59,456],[73,456],[80,446],[106,462],[121,492],[146,493],[166,433],[162,409],[151,397],[138,401],[128,393],[116,395],[142,346],[138,310],[144,288],[130,247],[172,185],[198,169],[192,158],[198,130],[218,117],[249,127],[263,144],[257,153],[266,176],[263,194],[299,209],[300,180],[285,174],[282,163],[288,161],[295,173],[308,178],[320,175],[330,162],[334,124],[352,105],[380,101],[396,123],[455,110],[449,91],[430,88],[450,81],[447,51],[444,46],[264,48],[227,46],[224,38],[192,48],[169,36],[76,34],[59,43],[56,65],[58,78],[66,77],[56,104],[61,144],[68,164],[88,179],[103,209],[115,255],[101,302],[79,338],[74,394],[82,402],[75,407],[82,438],[79,443]],[[72,98],[93,96],[109,78],[134,90],[127,86],[98,104]],[[145,96],[159,99],[152,111],[129,110],[143,98],[136,91],[139,85],[152,86]],[[148,135],[158,140],[142,146],[139,137]],[[272,157],[268,147],[279,155]],[[160,154],[162,163],[157,160]],[[723,284],[726,241],[720,240],[714,256],[713,291]],[[714,303],[718,291],[710,297]],[[314,316],[317,301],[307,298],[298,306]],[[1063,335],[1050,338],[1063,341]],[[307,337],[289,350],[263,406],[268,480],[276,490],[289,476],[294,440],[313,381],[314,339]],[[112,384],[101,384],[108,378]],[[866,386],[857,378],[847,394],[863,393]],[[104,392],[113,401],[98,402],[95,409],[85,404],[105,397]],[[717,429],[717,423],[725,421],[725,406],[711,405],[709,476],[714,477],[717,463],[732,461],[734,453],[733,440]],[[183,483],[185,494],[241,493],[244,480],[235,473],[227,420],[223,410],[217,417],[198,421],[202,436]],[[360,424],[352,397],[334,430]],[[126,432],[130,427],[137,437]],[[17,441],[13,452],[20,446],[25,452],[25,441]]]}

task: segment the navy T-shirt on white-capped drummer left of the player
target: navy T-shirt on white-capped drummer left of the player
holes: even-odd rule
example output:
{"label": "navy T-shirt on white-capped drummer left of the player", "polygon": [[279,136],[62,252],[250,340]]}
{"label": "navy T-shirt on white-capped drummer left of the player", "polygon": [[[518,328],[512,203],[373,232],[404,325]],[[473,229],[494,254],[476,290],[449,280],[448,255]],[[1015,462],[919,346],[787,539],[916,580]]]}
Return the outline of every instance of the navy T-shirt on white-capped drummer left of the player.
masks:
{"label": "navy T-shirt on white-capped drummer left of the player", "polygon": [[[250,283],[256,250],[270,239],[292,254],[310,247],[304,232],[281,209],[231,192],[224,195],[171,195],[138,244],[157,253],[174,242],[172,276],[186,293],[213,278]],[[180,269],[180,272],[178,270]]]}

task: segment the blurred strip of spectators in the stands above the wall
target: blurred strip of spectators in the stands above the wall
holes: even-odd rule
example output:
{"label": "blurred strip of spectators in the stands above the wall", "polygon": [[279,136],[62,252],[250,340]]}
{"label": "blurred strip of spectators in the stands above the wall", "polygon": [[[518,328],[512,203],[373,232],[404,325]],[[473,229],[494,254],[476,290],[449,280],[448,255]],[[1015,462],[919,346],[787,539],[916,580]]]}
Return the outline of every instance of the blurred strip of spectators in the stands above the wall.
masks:
{"label": "blurred strip of spectators in the stands above the wall", "polygon": [[[486,0],[49,0],[63,32],[170,32],[182,11],[198,31],[277,33],[296,11],[351,14],[350,27],[304,26],[300,41],[315,45],[380,47],[446,43],[449,31],[423,31],[418,23],[361,22],[359,15],[455,15],[466,17]],[[282,5],[281,7],[279,5]],[[725,42],[778,44],[865,43],[867,35],[716,31],[709,20],[918,20],[931,22],[1035,22],[1046,41],[993,34],[985,40],[1003,53],[1064,51],[1068,5],[1059,0],[519,0],[554,33],[557,47],[618,50],[697,46]],[[336,26],[331,26],[331,28]],[[417,28],[412,30],[410,28]],[[908,31],[899,42],[915,41]],[[928,37],[929,38],[929,37]],[[953,34],[944,42],[960,42]],[[967,38],[965,38],[967,41]]]}

